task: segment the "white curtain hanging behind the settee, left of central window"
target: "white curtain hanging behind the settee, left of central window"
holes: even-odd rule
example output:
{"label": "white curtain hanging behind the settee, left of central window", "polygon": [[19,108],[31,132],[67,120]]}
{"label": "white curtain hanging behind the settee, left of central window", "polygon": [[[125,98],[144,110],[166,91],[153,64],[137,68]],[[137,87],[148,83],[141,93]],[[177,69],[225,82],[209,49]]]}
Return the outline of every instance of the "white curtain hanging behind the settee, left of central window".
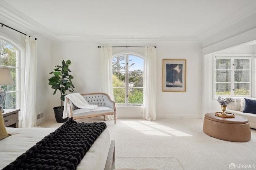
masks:
{"label": "white curtain hanging behind the settee, left of central window", "polygon": [[[100,62],[101,62],[101,91],[107,93],[113,100],[113,86],[112,86],[112,47],[100,48]],[[114,115],[105,116],[105,120],[113,120]]]}

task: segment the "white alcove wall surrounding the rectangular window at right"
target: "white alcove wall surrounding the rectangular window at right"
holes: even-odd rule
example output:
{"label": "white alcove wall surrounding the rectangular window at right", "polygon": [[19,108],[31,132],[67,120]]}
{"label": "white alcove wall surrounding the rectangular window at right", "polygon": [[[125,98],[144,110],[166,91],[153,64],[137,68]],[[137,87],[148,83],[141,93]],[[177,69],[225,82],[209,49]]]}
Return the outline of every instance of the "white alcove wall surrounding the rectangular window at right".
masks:
{"label": "white alcove wall surrounding the rectangular window at right", "polygon": [[[202,117],[204,117],[205,113],[209,112],[216,112],[220,111],[220,105],[218,104],[218,101],[214,99],[214,55],[215,54],[252,54],[255,55],[255,46],[256,45],[238,45],[236,47],[224,49],[221,51],[216,51],[214,53],[210,53],[207,55],[204,55],[204,71],[203,71],[203,114]],[[252,59],[252,63],[254,66],[255,60]],[[254,67],[252,68],[252,71],[254,70]],[[252,77],[252,81],[255,82],[255,74]],[[254,83],[255,84],[255,83]],[[252,87],[252,97],[255,96],[255,87]]]}

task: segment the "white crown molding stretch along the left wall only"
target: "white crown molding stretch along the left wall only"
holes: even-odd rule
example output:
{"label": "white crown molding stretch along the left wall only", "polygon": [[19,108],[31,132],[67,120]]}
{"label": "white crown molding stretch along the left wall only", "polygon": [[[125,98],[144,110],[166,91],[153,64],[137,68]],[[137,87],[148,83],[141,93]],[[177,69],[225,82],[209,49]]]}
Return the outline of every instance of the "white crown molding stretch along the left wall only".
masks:
{"label": "white crown molding stretch along the left wall only", "polygon": [[13,8],[3,0],[0,0],[0,11],[0,15],[4,16],[8,20],[20,24],[21,26],[27,28],[28,30],[32,30],[40,34],[43,34],[44,36],[47,36],[52,40],[55,39],[54,33],[52,33],[50,30],[48,30],[38,22],[35,22],[34,20],[32,20],[19,10],[17,10],[16,8]]}

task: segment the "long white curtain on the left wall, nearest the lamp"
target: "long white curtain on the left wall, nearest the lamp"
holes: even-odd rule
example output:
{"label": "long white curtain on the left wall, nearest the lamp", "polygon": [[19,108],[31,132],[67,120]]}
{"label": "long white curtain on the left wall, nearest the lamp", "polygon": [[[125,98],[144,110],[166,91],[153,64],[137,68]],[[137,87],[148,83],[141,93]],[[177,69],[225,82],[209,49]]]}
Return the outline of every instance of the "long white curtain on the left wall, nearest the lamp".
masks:
{"label": "long white curtain on the left wall, nearest the lamp", "polygon": [[24,104],[22,110],[22,127],[36,126],[36,65],[37,43],[26,36]]}

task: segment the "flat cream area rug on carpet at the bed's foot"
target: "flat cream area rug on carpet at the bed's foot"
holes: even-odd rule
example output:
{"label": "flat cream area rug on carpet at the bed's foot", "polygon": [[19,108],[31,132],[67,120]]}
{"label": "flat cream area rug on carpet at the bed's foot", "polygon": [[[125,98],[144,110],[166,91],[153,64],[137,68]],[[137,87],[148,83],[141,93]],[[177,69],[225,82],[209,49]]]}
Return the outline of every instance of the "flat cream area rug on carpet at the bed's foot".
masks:
{"label": "flat cream area rug on carpet at the bed's foot", "polygon": [[115,168],[155,168],[158,170],[183,170],[175,157],[115,157]]}

